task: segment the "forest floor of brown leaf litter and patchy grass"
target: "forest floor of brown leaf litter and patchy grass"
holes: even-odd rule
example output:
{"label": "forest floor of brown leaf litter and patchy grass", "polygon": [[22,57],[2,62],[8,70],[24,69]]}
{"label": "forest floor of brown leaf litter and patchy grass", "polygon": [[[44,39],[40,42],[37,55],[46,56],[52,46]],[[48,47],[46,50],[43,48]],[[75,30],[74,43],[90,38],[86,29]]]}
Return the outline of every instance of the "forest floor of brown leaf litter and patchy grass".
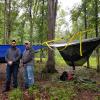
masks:
{"label": "forest floor of brown leaf litter and patchy grass", "polygon": [[[95,69],[77,67],[74,71],[74,79],[70,81],[60,81],[59,79],[61,73],[67,69],[57,68],[57,70],[58,73],[55,74],[35,72],[35,84],[37,85],[30,90],[25,90],[22,77],[23,68],[20,68],[18,80],[23,96],[22,99],[16,100],[100,100],[100,73],[97,73]],[[15,100],[14,96],[18,96],[18,94],[16,92],[15,95],[13,94],[13,88],[9,92],[2,93],[5,71],[5,65],[1,64],[0,100]],[[37,86],[38,89],[36,89]]]}

